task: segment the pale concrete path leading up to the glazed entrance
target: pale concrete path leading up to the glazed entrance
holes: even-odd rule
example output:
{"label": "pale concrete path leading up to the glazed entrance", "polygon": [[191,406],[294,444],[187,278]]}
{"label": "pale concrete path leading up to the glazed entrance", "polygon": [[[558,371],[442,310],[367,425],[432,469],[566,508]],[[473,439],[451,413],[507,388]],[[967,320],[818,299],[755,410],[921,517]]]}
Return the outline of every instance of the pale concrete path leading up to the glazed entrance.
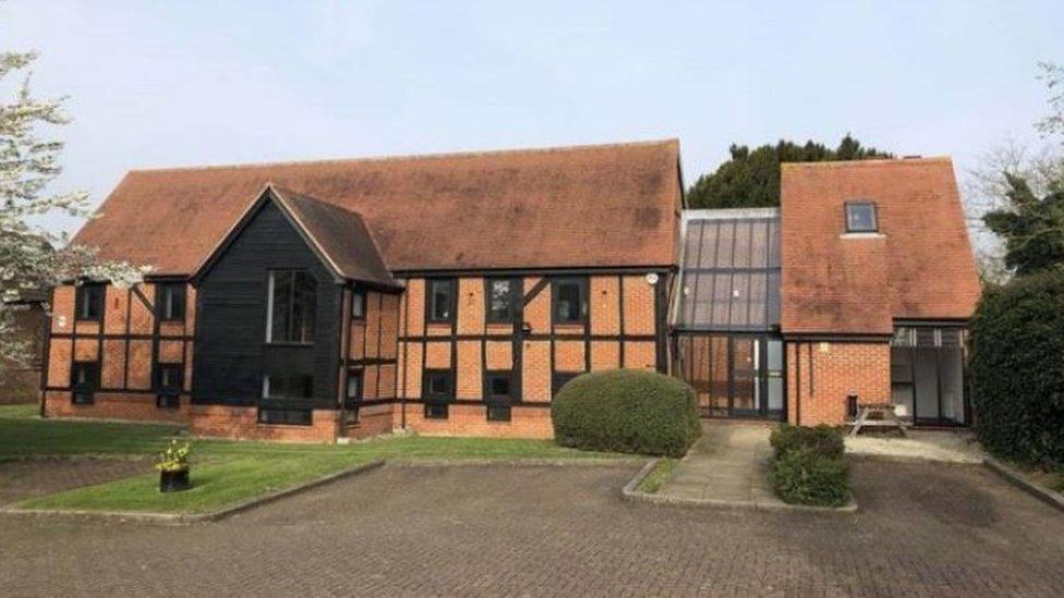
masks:
{"label": "pale concrete path leading up to the glazed entrance", "polygon": [[657,492],[680,499],[783,507],[765,477],[772,456],[771,432],[772,427],[764,424],[703,422],[702,438]]}

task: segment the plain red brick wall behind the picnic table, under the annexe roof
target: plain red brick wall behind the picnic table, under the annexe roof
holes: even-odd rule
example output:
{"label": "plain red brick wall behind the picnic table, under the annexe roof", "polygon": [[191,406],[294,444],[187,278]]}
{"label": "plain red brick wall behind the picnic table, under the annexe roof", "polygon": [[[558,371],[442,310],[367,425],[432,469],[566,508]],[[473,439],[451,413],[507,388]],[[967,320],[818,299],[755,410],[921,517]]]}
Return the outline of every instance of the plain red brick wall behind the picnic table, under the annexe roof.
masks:
{"label": "plain red brick wall behind the picnic table, under the annexe roof", "polygon": [[787,420],[813,426],[846,422],[846,398],[891,400],[891,347],[886,341],[788,342]]}

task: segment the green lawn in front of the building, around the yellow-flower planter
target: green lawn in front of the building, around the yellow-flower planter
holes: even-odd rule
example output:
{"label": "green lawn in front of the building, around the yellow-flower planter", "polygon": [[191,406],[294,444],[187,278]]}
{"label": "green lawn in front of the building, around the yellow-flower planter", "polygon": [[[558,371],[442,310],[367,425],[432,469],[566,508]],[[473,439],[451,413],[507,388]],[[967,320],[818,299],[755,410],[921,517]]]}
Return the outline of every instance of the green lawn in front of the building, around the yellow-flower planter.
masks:
{"label": "green lawn in front of the building, around the yellow-flower planter", "polygon": [[[0,459],[4,456],[152,456],[180,427],[40,419],[34,406],[0,407]],[[352,444],[283,444],[228,440],[191,441],[192,483],[184,492],[160,493],[150,473],[21,502],[31,509],[214,511],[378,459],[512,460],[610,459],[546,440],[385,437]],[[147,466],[147,465],[146,465]]]}

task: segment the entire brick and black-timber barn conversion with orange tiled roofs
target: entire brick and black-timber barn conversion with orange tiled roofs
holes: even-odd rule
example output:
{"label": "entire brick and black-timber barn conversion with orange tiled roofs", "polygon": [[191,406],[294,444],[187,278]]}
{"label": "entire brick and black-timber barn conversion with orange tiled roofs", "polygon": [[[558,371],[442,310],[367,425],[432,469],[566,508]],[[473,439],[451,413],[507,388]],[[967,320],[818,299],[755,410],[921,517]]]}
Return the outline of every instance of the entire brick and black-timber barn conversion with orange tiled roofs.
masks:
{"label": "entire brick and black-timber barn conversion with orange tiled roofs", "polygon": [[970,420],[948,159],[788,164],[779,209],[684,208],[675,139],[132,171],[75,241],[154,270],[56,289],[43,413],[549,437],[563,385],[624,367],[706,416]]}

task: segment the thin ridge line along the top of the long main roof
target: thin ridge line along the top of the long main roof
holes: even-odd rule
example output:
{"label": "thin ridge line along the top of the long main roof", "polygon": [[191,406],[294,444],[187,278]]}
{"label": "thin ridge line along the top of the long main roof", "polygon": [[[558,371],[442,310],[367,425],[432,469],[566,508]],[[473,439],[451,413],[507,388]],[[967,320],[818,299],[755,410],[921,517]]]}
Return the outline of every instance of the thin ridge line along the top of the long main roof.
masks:
{"label": "thin ridge line along the top of the long main roof", "polygon": [[605,143],[605,144],[577,144],[577,145],[561,145],[561,146],[548,146],[548,147],[481,149],[481,150],[469,150],[469,151],[444,151],[444,152],[430,152],[430,154],[398,154],[394,156],[365,156],[361,158],[324,158],[321,160],[279,160],[273,162],[241,162],[241,163],[231,163],[231,164],[137,168],[137,169],[131,169],[129,173],[180,172],[180,171],[195,171],[195,170],[201,170],[201,171],[246,170],[246,169],[276,168],[276,167],[289,167],[289,166],[339,164],[339,163],[349,163],[349,162],[389,162],[389,161],[399,162],[399,161],[407,161],[407,160],[439,160],[439,159],[447,159],[447,158],[474,158],[474,157],[482,157],[482,156],[498,156],[498,155],[560,154],[566,151],[580,151],[580,150],[588,150],[588,149],[649,147],[655,145],[676,145],[677,147],[679,147],[679,138],[665,137],[658,139],[644,139],[638,142],[616,142],[616,143]]}

